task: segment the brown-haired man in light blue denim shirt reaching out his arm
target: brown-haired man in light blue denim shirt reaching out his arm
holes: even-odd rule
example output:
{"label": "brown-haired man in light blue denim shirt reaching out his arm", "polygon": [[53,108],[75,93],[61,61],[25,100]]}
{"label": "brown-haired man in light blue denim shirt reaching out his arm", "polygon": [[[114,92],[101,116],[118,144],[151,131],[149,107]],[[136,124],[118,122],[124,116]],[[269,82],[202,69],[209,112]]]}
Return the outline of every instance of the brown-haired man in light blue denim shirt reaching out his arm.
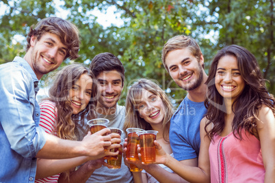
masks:
{"label": "brown-haired man in light blue denim shirt reaching out his arm", "polygon": [[44,18],[31,27],[27,42],[23,58],[0,65],[0,182],[34,182],[36,158],[98,157],[111,145],[111,137],[102,136],[107,129],[83,141],[68,141],[38,127],[38,81],[64,59],[78,57],[77,27],[62,18]]}

